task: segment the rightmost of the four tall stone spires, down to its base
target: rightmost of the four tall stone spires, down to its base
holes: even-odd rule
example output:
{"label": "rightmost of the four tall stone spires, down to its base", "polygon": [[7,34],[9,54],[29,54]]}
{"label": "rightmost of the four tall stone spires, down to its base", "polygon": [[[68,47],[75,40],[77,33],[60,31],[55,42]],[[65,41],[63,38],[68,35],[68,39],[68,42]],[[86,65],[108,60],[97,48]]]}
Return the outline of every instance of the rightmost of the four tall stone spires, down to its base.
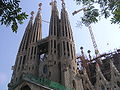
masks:
{"label": "rightmost of the four tall stone spires, down to its base", "polygon": [[77,83],[75,82],[77,82],[77,79],[75,79],[75,75],[77,73],[77,63],[75,56],[75,45],[64,0],[62,0],[60,25],[60,59],[61,65],[64,66],[61,67],[61,70],[63,71],[61,72],[61,80],[63,85],[74,88],[76,90]]}

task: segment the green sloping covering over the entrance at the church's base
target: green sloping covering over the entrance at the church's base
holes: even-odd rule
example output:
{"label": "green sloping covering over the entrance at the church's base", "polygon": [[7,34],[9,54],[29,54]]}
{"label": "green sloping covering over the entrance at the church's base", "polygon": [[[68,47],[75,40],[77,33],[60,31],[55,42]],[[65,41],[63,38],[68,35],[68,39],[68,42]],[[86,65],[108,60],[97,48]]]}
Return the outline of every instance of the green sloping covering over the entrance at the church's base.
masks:
{"label": "green sloping covering over the entrance at the church's base", "polygon": [[14,83],[13,85],[9,85],[8,90],[14,90],[14,88],[16,88],[23,81],[34,83],[36,85],[47,88],[48,90],[74,90],[73,88],[65,87],[57,82],[48,80],[48,79],[43,78],[43,77],[33,76],[31,74],[24,74],[22,76],[22,78],[20,80],[18,80],[16,83]]}

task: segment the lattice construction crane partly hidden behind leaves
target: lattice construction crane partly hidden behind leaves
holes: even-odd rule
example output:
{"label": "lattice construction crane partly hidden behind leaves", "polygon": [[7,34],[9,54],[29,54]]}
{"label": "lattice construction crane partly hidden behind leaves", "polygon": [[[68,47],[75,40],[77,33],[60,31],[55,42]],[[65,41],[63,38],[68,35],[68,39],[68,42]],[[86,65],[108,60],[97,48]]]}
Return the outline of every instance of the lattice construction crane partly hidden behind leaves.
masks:
{"label": "lattice construction crane partly hidden behind leaves", "polygon": [[[81,12],[81,11],[83,11],[83,12],[85,13],[86,10],[87,10],[87,8],[84,7],[84,8],[82,8],[82,9],[77,10],[77,11],[74,11],[72,14],[73,14],[73,16],[74,16],[75,14],[77,14],[77,13],[79,13],[79,12]],[[89,32],[90,32],[90,35],[91,35],[93,47],[94,47],[94,50],[95,50],[95,55],[96,55],[96,57],[98,57],[98,56],[100,56],[100,53],[99,53],[99,50],[98,50],[98,48],[97,48],[97,44],[96,44],[96,41],[95,41],[94,34],[93,34],[93,32],[92,32],[92,27],[91,27],[91,25],[88,25],[87,27],[88,27]]]}

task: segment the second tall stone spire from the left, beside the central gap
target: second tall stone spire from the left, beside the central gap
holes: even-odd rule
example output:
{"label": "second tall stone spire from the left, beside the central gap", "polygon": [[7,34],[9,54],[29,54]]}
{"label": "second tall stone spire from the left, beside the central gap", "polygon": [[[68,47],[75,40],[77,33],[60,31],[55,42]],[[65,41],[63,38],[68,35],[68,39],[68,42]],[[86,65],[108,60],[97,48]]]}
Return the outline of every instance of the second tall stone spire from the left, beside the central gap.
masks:
{"label": "second tall stone spire from the left, beside the central gap", "polygon": [[30,44],[27,53],[26,62],[26,73],[38,76],[39,60],[37,59],[37,43],[42,39],[42,18],[41,18],[41,6],[39,4],[39,9],[34,21],[32,31],[30,33]]}

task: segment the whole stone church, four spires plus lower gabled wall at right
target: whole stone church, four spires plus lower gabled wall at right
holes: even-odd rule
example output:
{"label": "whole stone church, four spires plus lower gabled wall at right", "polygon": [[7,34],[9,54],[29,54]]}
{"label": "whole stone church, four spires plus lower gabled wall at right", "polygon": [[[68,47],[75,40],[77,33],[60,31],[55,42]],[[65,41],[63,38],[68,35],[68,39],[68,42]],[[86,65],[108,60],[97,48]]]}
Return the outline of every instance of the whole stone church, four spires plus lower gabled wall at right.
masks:
{"label": "whole stone church, four spires plus lower gabled wall at right", "polygon": [[[60,16],[57,2],[51,2],[49,35],[42,38],[41,6],[40,3],[34,22],[31,13],[8,90],[120,90],[120,69],[114,65],[114,59],[106,60],[108,71],[103,60],[102,65],[91,62],[78,69],[73,33],[63,0]],[[83,60],[86,61],[84,57]],[[117,60],[119,62],[120,58]]]}

